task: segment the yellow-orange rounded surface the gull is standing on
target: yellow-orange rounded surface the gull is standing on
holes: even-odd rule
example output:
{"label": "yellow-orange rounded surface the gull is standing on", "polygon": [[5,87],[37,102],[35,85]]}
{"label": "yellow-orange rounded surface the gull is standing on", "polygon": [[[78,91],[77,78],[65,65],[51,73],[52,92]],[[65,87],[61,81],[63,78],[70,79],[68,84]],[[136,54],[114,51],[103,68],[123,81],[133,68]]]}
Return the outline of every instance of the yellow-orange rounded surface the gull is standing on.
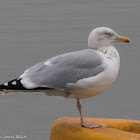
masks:
{"label": "yellow-orange rounded surface the gull is standing on", "polygon": [[50,140],[140,140],[140,121],[100,118],[84,120],[102,127],[83,128],[79,118],[60,118],[52,126]]}

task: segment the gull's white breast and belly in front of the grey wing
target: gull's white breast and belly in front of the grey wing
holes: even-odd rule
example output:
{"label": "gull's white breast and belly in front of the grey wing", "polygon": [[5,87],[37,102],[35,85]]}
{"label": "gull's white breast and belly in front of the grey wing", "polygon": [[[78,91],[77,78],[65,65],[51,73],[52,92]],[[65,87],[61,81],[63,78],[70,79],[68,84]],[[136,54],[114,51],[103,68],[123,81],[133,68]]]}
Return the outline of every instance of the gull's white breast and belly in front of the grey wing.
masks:
{"label": "gull's white breast and belly in front of the grey wing", "polygon": [[71,90],[70,98],[90,98],[104,92],[115,81],[119,66],[120,57],[118,51],[110,46],[107,48],[107,53],[99,52],[103,58],[105,70],[97,76],[81,79],[77,81],[76,89]]}

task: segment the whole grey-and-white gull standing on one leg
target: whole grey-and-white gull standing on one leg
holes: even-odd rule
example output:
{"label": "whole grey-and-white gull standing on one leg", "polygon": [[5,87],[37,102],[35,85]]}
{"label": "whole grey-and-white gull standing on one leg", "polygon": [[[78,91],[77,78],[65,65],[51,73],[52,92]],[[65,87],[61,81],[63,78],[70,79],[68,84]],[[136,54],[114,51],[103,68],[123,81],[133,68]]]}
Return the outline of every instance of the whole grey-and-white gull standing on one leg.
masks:
{"label": "whole grey-and-white gull standing on one leg", "polygon": [[84,122],[80,99],[104,92],[115,81],[120,65],[119,53],[113,46],[115,42],[129,43],[130,39],[119,36],[108,27],[95,28],[89,35],[88,49],[40,62],[18,78],[0,85],[0,89],[4,94],[44,92],[49,96],[75,98],[81,126],[100,127]]}

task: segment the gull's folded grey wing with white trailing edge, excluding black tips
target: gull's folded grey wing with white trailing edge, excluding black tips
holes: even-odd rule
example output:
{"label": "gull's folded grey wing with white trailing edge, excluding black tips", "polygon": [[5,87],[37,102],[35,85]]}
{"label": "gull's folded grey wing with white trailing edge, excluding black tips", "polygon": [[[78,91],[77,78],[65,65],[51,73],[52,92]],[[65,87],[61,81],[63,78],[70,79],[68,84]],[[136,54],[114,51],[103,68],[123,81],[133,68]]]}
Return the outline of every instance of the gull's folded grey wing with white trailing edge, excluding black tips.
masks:
{"label": "gull's folded grey wing with white trailing edge, excluding black tips", "polygon": [[65,89],[68,83],[96,76],[105,69],[102,58],[92,49],[62,54],[36,64],[21,76],[26,88]]}

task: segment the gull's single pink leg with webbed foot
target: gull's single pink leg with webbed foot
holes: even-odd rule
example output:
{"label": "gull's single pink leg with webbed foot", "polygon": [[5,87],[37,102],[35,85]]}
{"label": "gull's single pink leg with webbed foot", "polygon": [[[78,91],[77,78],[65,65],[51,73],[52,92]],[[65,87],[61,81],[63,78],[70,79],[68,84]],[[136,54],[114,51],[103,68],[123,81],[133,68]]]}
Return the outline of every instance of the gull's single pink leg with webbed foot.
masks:
{"label": "gull's single pink leg with webbed foot", "polygon": [[86,127],[86,128],[99,128],[99,127],[101,127],[100,125],[95,125],[93,123],[84,122],[82,111],[81,111],[82,106],[80,104],[79,99],[77,99],[77,108],[78,108],[78,111],[79,111],[79,114],[80,114],[80,123],[81,123],[82,127]]}

